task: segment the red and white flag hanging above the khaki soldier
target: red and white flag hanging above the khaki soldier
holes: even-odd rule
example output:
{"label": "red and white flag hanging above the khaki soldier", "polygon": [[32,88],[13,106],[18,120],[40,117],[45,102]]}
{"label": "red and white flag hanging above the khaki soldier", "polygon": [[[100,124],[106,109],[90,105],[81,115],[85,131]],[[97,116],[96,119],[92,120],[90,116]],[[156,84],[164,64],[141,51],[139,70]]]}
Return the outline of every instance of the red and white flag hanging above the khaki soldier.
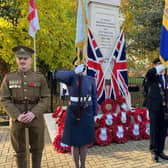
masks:
{"label": "red and white flag hanging above the khaki soldier", "polygon": [[29,35],[35,37],[37,30],[40,29],[37,8],[34,0],[30,0],[29,2]]}

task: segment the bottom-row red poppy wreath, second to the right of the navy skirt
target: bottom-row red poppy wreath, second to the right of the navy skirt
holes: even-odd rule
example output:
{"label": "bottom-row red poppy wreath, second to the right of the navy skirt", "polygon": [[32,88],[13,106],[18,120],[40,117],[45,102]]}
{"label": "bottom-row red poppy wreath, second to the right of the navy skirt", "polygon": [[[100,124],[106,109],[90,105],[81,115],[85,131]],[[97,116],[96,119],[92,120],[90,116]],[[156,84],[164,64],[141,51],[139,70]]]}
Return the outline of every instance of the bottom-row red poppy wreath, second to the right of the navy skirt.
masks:
{"label": "bottom-row red poppy wreath, second to the right of the navy skirt", "polygon": [[[119,132],[119,127],[122,127],[123,132]],[[123,125],[115,125],[113,127],[113,140],[116,143],[125,143],[128,141],[128,130]]]}

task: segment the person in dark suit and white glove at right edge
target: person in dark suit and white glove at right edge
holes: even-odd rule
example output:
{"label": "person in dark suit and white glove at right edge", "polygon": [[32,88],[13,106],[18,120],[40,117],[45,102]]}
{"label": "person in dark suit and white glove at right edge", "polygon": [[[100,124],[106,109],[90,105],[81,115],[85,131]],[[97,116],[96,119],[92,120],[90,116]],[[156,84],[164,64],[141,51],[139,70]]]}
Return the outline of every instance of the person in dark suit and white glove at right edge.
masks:
{"label": "person in dark suit and white glove at right edge", "polygon": [[149,69],[146,77],[146,98],[144,106],[149,110],[150,117],[150,146],[152,159],[159,162],[159,157],[168,160],[164,154],[164,145],[167,134],[167,120],[164,118],[166,110],[165,89],[167,87],[165,66],[161,65],[159,58],[153,61],[154,67]]}

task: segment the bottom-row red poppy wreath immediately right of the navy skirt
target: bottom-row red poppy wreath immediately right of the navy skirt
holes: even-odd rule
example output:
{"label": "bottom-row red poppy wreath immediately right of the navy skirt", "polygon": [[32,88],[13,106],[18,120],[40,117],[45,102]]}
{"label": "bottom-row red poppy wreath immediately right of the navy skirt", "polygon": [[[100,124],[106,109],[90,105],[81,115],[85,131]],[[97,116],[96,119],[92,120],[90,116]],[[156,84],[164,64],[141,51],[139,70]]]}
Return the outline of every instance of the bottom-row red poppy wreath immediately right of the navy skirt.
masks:
{"label": "bottom-row red poppy wreath immediately right of the navy skirt", "polygon": [[[106,139],[103,140],[101,139],[101,133],[102,133],[102,129],[105,129],[106,131]],[[105,146],[105,145],[109,145],[113,139],[112,137],[112,134],[111,134],[111,131],[109,130],[109,128],[98,128],[96,131],[95,131],[95,137],[96,137],[96,143],[100,146]]]}

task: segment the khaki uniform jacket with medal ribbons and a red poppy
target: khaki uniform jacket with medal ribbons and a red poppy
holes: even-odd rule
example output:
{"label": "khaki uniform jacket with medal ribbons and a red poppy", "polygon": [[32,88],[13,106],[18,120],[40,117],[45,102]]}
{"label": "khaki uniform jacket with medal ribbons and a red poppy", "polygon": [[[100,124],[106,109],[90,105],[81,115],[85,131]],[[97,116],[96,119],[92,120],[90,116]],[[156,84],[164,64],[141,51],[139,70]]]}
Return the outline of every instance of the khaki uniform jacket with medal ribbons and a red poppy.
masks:
{"label": "khaki uniform jacket with medal ribbons and a red poppy", "polygon": [[49,89],[44,75],[32,71],[8,73],[1,84],[0,101],[13,121],[25,112],[25,99],[29,102],[28,110],[37,118],[43,118],[49,101]]}

